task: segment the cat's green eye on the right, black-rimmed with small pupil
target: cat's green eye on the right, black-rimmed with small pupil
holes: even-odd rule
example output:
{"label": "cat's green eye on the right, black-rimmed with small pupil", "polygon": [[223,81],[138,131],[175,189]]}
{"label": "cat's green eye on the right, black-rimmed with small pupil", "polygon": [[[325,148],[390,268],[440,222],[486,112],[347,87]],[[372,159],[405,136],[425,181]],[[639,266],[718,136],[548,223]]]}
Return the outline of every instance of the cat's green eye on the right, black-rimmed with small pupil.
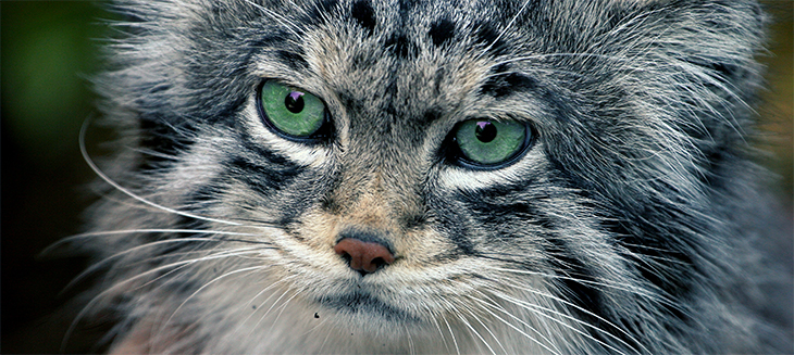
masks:
{"label": "cat's green eye on the right, black-rimmed with small pupil", "polygon": [[531,138],[529,126],[514,121],[469,119],[456,129],[459,159],[476,167],[508,163],[524,152]]}

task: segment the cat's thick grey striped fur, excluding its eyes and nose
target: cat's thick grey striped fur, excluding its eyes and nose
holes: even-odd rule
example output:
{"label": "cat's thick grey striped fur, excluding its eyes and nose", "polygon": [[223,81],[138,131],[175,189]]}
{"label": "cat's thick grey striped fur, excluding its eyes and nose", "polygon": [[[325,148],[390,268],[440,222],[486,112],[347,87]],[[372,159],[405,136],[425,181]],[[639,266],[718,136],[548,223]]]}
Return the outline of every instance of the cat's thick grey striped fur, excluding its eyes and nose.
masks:
{"label": "cat's thick grey striped fur, excluding its eyes and nose", "polygon": [[[117,183],[75,238],[117,353],[753,353],[773,238],[748,0],[119,0]],[[265,79],[321,98],[271,131]],[[497,169],[457,123],[529,123]],[[334,253],[368,234],[397,259]]]}

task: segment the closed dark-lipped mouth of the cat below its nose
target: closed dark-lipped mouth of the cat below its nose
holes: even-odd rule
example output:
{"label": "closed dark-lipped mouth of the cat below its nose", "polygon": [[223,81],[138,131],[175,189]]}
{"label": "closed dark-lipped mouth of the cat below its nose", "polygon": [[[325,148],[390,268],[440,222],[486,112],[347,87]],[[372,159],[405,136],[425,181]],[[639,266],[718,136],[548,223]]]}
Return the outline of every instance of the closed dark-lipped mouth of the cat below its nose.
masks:
{"label": "closed dark-lipped mouth of the cat below its nose", "polygon": [[399,309],[365,291],[325,295],[320,297],[318,303],[351,317],[376,318],[392,322],[420,321],[417,316]]}

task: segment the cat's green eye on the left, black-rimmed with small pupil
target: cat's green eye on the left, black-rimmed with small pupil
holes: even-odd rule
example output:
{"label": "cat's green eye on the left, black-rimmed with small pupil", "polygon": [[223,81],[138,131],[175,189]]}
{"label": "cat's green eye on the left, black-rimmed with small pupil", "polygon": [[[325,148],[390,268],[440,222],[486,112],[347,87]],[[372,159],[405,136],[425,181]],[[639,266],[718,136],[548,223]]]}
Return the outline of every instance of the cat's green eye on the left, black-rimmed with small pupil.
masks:
{"label": "cat's green eye on the left, black-rimmed with small pupil", "polygon": [[314,138],[325,125],[325,104],[300,89],[265,81],[260,89],[262,118],[287,138]]}

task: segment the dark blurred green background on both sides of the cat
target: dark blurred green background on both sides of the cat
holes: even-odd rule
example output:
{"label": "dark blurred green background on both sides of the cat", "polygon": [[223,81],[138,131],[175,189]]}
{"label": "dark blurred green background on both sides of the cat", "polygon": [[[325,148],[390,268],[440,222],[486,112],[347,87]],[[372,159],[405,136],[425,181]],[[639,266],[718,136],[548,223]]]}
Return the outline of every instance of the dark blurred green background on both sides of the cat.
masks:
{"label": "dark blurred green background on both sides of the cat", "polygon": [[[769,132],[761,148],[776,154],[766,164],[782,176],[774,188],[791,208],[794,10],[787,0],[766,3],[776,23],[771,55],[761,59],[770,80],[759,110]],[[100,64],[97,39],[107,37],[100,22],[109,16],[92,1],[0,2],[2,353],[57,353],[74,317],[75,309],[58,310],[70,296],[59,293],[83,261],[37,254],[78,232],[80,211],[96,198],[85,188],[94,175],[77,136],[96,113],[86,78]],[[75,337],[66,351],[91,351],[94,340]]]}

